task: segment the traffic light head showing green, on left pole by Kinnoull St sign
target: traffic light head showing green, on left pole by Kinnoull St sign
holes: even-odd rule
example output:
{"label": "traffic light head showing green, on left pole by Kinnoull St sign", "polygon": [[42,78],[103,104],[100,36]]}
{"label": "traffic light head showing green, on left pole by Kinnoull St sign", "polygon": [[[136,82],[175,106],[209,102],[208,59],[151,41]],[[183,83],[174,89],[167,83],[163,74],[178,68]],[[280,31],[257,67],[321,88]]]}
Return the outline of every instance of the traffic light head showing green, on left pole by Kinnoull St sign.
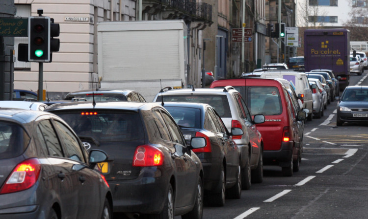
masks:
{"label": "traffic light head showing green, on left pole by Kinnoull St sign", "polygon": [[50,17],[28,18],[28,61],[50,61]]}

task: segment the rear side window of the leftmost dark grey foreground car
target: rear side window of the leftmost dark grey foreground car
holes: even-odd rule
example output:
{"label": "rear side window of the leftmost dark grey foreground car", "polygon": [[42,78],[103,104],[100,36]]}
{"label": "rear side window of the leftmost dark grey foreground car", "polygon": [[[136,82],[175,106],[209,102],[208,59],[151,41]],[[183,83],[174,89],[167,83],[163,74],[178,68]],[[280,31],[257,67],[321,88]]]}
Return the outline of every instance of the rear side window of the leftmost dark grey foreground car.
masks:
{"label": "rear side window of the leftmost dark grey foreground car", "polygon": [[47,148],[47,152],[50,156],[64,157],[59,139],[56,136],[50,120],[43,120],[38,124],[37,135],[41,144]]}

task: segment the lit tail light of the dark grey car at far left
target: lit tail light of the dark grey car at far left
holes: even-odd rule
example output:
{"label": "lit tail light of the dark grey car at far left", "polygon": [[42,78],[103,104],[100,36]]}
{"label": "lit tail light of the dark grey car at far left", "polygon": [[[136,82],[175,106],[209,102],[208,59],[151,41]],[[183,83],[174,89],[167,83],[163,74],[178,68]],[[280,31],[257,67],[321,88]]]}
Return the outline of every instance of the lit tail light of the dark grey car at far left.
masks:
{"label": "lit tail light of the dark grey car at far left", "polygon": [[41,172],[41,163],[31,158],[19,163],[0,190],[0,194],[20,192],[32,187]]}

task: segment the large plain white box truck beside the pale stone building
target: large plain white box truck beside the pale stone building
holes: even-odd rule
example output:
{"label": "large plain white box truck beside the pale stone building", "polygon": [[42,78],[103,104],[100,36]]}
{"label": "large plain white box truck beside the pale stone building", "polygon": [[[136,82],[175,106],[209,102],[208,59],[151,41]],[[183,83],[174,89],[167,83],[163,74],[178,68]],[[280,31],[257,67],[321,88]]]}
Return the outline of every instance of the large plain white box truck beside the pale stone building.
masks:
{"label": "large plain white box truck beside the pale stone building", "polygon": [[131,89],[152,101],[161,88],[187,86],[183,20],[98,22],[101,88]]}

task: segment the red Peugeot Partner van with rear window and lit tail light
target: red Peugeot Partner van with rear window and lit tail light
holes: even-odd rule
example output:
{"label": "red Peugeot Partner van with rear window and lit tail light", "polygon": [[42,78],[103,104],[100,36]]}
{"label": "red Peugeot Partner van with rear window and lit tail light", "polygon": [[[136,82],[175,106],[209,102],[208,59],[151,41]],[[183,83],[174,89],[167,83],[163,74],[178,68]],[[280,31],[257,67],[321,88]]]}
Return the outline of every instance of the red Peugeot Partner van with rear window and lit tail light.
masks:
{"label": "red Peugeot Partner van with rear window and lit tail light", "polygon": [[303,147],[306,112],[300,110],[291,92],[276,78],[237,78],[217,80],[210,88],[232,86],[237,89],[252,116],[263,114],[265,122],[257,124],[263,136],[264,165],[279,165],[285,176],[299,171]]}

